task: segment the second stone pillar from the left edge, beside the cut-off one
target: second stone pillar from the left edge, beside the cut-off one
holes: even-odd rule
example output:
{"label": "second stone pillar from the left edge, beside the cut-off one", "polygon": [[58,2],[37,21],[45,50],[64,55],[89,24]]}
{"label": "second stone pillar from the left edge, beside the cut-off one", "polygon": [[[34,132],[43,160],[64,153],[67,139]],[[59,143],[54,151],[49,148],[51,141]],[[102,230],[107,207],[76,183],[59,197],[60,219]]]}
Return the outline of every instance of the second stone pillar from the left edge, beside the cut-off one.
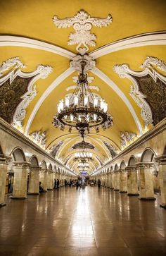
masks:
{"label": "second stone pillar from the left edge, beside the cut-off one", "polygon": [[27,173],[29,171],[30,163],[26,161],[13,162],[14,180],[12,199],[26,199],[27,198]]}

